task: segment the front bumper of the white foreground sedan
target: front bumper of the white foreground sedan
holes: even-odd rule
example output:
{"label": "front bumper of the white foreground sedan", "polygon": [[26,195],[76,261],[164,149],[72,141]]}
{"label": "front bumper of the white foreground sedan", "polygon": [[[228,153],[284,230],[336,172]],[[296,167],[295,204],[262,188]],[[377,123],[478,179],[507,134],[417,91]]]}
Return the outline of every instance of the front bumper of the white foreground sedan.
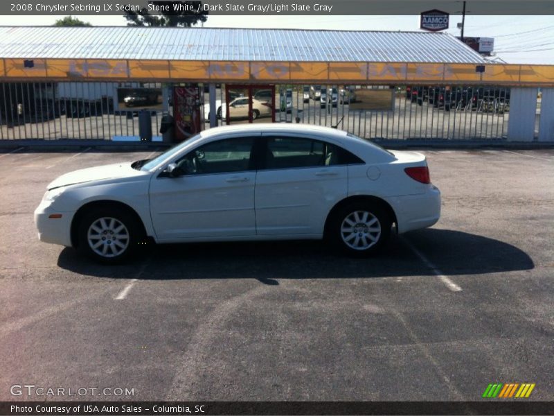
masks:
{"label": "front bumper of the white foreground sedan", "polygon": [[[51,215],[61,214],[61,218],[51,218]],[[71,247],[72,211],[58,211],[51,207],[51,201],[42,201],[35,209],[35,225],[39,232],[39,240],[44,243],[65,245]]]}

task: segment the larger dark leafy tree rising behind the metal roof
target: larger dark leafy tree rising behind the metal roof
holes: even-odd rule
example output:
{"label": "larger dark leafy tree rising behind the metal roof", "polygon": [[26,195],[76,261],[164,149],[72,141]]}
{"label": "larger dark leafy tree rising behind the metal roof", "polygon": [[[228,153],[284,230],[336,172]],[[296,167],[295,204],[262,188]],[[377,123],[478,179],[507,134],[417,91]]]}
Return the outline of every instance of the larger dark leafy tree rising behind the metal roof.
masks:
{"label": "larger dark leafy tree rising behind the metal roof", "polygon": [[[159,10],[160,15],[150,15],[148,9],[141,8],[139,12],[129,10],[125,19],[127,26],[181,26],[190,27],[198,21],[206,21],[208,12],[203,10],[202,1],[149,1],[153,10]],[[168,10],[166,10],[168,8]]]}

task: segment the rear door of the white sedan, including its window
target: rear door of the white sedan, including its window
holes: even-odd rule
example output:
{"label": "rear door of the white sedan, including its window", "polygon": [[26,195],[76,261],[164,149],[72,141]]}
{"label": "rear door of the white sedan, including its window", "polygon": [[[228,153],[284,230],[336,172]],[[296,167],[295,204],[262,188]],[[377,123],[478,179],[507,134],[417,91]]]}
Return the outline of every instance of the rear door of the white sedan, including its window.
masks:
{"label": "rear door of the white sedan, including its window", "polygon": [[330,209],[348,192],[347,166],[334,163],[337,146],[297,135],[263,136],[265,160],[254,198],[257,234],[321,235]]}

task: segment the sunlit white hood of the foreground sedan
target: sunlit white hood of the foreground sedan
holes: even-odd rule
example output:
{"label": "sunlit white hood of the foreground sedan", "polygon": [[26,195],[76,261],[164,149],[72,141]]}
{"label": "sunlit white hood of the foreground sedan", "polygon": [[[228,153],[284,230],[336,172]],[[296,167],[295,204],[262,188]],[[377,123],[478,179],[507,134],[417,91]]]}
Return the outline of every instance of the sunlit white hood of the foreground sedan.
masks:
{"label": "sunlit white hood of the foreground sedan", "polygon": [[67,187],[84,182],[93,182],[96,180],[107,180],[120,177],[133,177],[143,174],[131,167],[132,162],[115,163],[93,168],[79,169],[66,173],[48,184],[47,189],[51,190],[59,187]]}

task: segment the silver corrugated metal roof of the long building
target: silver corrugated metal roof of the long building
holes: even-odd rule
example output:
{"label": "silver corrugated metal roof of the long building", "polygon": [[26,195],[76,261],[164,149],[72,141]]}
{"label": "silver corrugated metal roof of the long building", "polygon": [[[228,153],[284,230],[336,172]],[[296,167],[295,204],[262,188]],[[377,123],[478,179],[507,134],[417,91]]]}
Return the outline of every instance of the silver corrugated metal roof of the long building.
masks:
{"label": "silver corrugated metal roof of the long building", "polygon": [[447,33],[0,27],[0,58],[483,63]]}

